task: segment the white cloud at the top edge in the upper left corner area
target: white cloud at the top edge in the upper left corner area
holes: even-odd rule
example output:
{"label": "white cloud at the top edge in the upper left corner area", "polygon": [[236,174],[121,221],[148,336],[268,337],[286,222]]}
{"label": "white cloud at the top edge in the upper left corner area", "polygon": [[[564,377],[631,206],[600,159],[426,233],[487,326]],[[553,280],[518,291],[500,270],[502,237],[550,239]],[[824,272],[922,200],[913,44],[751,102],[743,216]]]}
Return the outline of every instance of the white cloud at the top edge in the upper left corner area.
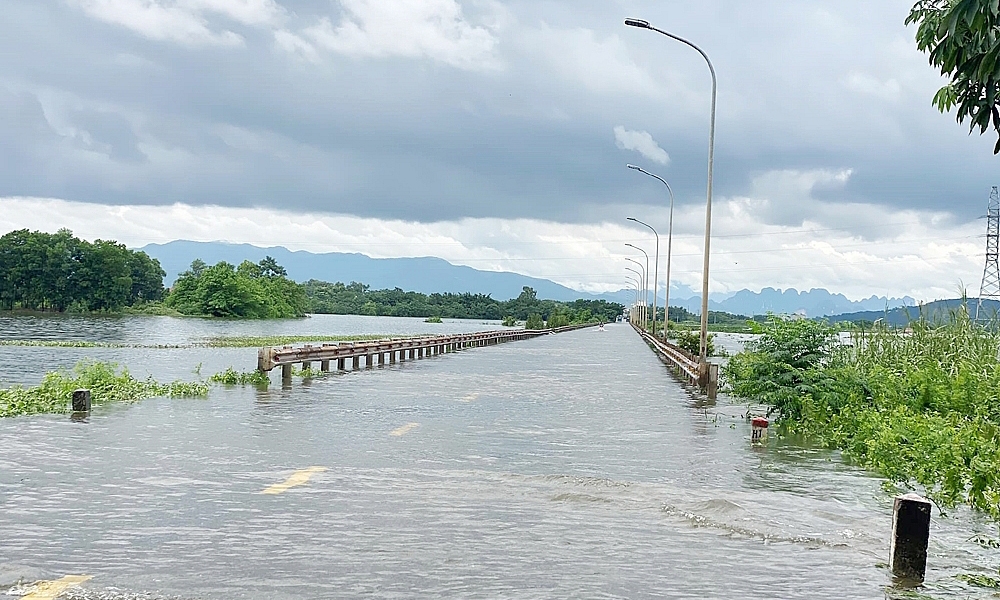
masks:
{"label": "white cloud at the top edge in the upper left corner area", "polygon": [[119,25],[153,40],[180,44],[239,46],[243,37],[213,29],[206,15],[242,25],[275,22],[284,13],[274,0],[70,0],[92,18]]}

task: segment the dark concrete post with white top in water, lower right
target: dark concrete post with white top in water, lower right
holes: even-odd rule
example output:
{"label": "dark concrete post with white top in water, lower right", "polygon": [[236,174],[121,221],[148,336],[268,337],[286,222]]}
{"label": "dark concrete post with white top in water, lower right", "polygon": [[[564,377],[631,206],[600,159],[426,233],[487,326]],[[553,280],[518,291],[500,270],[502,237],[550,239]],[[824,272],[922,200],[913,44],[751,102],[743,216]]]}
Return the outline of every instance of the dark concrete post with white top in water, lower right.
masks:
{"label": "dark concrete post with white top in water, lower right", "polygon": [[924,579],[930,539],[931,503],[917,494],[896,496],[892,503],[889,565],[897,577]]}

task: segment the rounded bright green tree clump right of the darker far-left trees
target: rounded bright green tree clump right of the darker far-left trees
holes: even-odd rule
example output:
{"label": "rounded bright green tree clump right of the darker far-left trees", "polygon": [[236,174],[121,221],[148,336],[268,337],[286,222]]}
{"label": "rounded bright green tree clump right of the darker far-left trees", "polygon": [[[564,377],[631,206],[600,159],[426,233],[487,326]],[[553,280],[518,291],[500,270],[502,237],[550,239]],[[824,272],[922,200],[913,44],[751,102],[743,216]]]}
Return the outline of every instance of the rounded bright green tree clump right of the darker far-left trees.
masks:
{"label": "rounded bright green tree clump right of the darker far-left trees", "polygon": [[273,258],[238,267],[220,262],[211,267],[200,260],[177,278],[164,304],[185,315],[240,319],[301,317],[306,311],[305,288],[288,279]]}

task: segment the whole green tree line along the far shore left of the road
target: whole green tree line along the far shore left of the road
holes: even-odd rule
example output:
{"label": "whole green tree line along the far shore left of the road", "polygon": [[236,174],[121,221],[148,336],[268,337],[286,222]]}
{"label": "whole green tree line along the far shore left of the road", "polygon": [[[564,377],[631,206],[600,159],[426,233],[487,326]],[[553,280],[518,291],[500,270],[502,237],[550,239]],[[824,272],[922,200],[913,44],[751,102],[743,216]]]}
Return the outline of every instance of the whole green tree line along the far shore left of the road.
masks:
{"label": "whole green tree line along the far shore left of the road", "polygon": [[613,321],[622,305],[605,300],[540,300],[524,287],[517,298],[373,290],[363,283],[299,284],[270,256],[259,263],[208,265],[195,260],[164,289],[159,261],[114,241],[88,242],[68,229],[26,229],[0,237],[0,308],[117,312],[141,305],[158,314],[274,319],[306,313],[507,319],[558,327]]}

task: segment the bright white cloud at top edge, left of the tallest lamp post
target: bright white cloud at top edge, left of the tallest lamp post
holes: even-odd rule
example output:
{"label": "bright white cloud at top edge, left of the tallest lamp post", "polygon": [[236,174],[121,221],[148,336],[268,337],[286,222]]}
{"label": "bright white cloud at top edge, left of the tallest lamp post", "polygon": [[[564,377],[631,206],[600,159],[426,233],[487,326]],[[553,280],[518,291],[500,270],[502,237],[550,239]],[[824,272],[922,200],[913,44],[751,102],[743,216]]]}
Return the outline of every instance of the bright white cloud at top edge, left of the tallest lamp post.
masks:
{"label": "bright white cloud at top edge, left of the tallest lamp post", "polygon": [[[494,32],[470,23],[456,0],[340,0],[340,4],[344,15],[339,23],[321,18],[299,39],[351,57],[430,58],[468,70],[500,67]],[[289,42],[286,38],[282,46]]]}

